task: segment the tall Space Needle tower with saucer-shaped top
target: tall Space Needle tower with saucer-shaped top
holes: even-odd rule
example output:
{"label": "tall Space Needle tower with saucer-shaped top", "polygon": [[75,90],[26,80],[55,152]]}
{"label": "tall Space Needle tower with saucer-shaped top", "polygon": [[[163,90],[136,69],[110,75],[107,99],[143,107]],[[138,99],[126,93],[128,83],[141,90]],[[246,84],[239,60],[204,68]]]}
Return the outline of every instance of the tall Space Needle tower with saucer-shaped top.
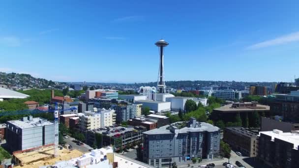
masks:
{"label": "tall Space Needle tower with saucer-shaped top", "polygon": [[157,82],[157,89],[160,93],[166,93],[166,85],[164,79],[164,47],[168,46],[168,43],[161,39],[155,43],[157,47],[159,47],[159,54],[160,54],[160,64],[159,64],[159,75],[158,75],[158,82]]}

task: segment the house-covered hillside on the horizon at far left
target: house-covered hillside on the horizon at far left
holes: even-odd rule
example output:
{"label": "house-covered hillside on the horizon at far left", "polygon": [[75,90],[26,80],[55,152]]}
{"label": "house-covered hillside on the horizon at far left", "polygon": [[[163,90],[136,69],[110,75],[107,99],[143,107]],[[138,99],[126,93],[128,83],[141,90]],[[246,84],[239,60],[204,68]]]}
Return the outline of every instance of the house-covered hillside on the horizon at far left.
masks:
{"label": "house-covered hillside on the horizon at far left", "polygon": [[18,73],[4,73],[0,72],[0,84],[7,85],[8,87],[30,87],[30,88],[48,88],[48,86],[55,87],[53,81],[46,79],[34,78],[29,74]]}

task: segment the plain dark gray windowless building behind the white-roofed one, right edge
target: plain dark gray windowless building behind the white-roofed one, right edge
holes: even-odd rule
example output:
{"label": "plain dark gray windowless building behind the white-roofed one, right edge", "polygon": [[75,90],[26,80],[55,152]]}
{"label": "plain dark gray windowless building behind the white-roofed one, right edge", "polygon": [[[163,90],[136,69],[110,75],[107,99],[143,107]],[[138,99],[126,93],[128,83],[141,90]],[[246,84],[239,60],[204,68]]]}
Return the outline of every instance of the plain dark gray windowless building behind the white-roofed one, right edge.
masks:
{"label": "plain dark gray windowless building behind the white-roofed one, right edge", "polygon": [[261,131],[271,131],[278,129],[283,132],[299,130],[299,123],[283,122],[271,118],[261,117]]}

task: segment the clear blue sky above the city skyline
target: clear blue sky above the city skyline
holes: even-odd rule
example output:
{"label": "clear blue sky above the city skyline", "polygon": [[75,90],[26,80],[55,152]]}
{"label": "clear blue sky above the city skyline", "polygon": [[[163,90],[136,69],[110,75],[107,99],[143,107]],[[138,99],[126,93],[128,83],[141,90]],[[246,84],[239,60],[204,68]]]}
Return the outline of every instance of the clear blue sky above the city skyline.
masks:
{"label": "clear blue sky above the city skyline", "polygon": [[0,71],[65,82],[291,82],[299,1],[0,1]]}

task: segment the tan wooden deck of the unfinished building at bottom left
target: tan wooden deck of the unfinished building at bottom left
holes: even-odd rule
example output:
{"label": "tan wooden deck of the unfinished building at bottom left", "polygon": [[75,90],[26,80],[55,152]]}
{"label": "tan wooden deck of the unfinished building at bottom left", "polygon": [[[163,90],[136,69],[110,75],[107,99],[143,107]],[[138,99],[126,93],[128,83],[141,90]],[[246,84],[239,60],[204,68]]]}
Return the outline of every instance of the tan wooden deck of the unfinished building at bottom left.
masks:
{"label": "tan wooden deck of the unfinished building at bottom left", "polygon": [[71,160],[82,156],[82,152],[75,149],[60,148],[58,156],[54,156],[54,145],[42,146],[25,151],[13,153],[14,168],[39,168],[54,165],[56,162]]}

